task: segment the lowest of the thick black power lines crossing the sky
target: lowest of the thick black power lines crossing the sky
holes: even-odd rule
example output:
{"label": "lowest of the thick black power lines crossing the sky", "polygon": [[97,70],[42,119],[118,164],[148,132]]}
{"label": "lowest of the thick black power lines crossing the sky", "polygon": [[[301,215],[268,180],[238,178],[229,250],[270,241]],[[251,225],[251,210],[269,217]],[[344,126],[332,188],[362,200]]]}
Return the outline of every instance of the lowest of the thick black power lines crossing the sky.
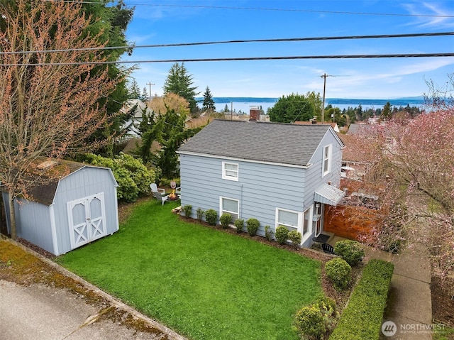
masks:
{"label": "lowest of the thick black power lines crossing the sky", "polygon": [[370,59],[370,58],[401,58],[401,57],[454,57],[454,53],[401,53],[384,55],[294,55],[284,57],[225,57],[225,58],[194,58],[194,59],[162,59],[162,60],[119,60],[100,62],[45,62],[37,64],[0,64],[5,66],[58,66],[58,65],[107,65],[107,64],[142,64],[148,62],[221,62],[245,60],[297,60],[297,59]]}

